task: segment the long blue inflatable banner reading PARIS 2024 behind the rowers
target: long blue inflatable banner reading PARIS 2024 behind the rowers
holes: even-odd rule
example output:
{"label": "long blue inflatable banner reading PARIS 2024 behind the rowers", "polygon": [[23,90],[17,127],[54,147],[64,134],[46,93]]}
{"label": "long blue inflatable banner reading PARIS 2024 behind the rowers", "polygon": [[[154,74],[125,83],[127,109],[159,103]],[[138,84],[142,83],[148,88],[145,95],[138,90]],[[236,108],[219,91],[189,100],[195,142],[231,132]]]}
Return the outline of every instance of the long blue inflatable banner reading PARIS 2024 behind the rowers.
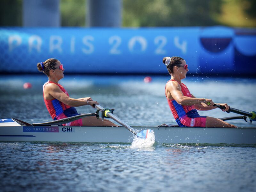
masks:
{"label": "long blue inflatable banner reading PARIS 2024 behind the rowers", "polygon": [[166,56],[184,58],[193,74],[256,72],[255,29],[10,27],[0,42],[1,73],[35,73],[56,58],[70,73],[166,74]]}

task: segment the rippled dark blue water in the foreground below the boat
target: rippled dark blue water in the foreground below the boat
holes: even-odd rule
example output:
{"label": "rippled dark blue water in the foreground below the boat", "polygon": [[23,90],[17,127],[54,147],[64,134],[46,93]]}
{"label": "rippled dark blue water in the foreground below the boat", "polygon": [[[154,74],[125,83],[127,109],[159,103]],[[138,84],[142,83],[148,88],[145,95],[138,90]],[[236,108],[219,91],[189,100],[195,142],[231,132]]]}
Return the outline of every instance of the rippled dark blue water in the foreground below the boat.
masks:
{"label": "rippled dark blue water in the foreground below the boat", "polygon": [[256,148],[0,143],[4,191],[255,191]]}

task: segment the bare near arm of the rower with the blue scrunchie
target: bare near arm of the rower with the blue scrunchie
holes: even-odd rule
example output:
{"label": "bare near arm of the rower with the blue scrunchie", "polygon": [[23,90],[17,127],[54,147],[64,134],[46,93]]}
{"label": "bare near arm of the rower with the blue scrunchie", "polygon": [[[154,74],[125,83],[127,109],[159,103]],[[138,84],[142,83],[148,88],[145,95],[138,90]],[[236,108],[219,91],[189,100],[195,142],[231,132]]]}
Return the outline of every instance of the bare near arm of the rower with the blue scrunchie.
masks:
{"label": "bare near arm of the rower with the blue scrunchie", "polygon": [[62,92],[60,90],[60,87],[56,84],[47,84],[44,87],[44,94],[48,94],[51,97],[61,101],[62,103],[69,105],[71,107],[79,107],[79,106],[83,106],[83,105],[91,105],[93,107],[94,104],[98,104],[97,101],[92,101],[92,100],[82,100],[85,98],[80,98],[80,99],[73,99],[71,97],[68,97],[67,94],[65,94],[64,92]]}

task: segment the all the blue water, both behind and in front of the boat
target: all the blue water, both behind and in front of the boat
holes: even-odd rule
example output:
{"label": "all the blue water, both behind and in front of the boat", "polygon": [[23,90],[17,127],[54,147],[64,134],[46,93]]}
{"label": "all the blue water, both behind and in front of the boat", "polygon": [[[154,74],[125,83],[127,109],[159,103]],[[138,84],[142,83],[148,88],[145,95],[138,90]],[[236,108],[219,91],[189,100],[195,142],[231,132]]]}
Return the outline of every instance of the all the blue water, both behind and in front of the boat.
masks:
{"label": "all the blue water, both behind and in front of the boat", "polygon": [[[65,76],[71,97],[90,96],[129,125],[175,123],[164,96],[169,79],[143,76]],[[50,121],[42,99],[45,76],[1,76],[0,118]],[[22,85],[30,82],[32,88]],[[187,77],[196,97],[255,111],[256,79]],[[89,107],[80,113],[94,112]],[[236,116],[220,109],[200,111]],[[243,120],[229,121],[255,127]],[[1,191],[255,191],[256,148],[233,145],[0,142]]]}

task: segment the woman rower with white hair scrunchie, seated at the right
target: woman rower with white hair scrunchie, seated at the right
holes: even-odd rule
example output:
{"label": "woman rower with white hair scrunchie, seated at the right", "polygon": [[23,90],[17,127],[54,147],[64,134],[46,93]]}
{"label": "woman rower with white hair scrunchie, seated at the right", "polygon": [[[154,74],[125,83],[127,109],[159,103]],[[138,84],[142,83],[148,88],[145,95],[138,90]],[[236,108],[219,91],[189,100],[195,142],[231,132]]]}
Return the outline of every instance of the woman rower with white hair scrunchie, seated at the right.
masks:
{"label": "woman rower with white hair scrunchie, seated at the right", "polygon": [[[163,63],[171,75],[171,79],[165,85],[165,96],[180,127],[236,127],[218,118],[199,116],[197,110],[206,111],[217,107],[213,107],[214,103],[211,99],[196,98],[189,92],[187,86],[181,83],[188,72],[188,65],[184,59],[181,57],[164,57]],[[207,105],[208,102],[211,103],[209,106]],[[226,103],[220,105],[226,107],[223,111],[229,109]]]}

